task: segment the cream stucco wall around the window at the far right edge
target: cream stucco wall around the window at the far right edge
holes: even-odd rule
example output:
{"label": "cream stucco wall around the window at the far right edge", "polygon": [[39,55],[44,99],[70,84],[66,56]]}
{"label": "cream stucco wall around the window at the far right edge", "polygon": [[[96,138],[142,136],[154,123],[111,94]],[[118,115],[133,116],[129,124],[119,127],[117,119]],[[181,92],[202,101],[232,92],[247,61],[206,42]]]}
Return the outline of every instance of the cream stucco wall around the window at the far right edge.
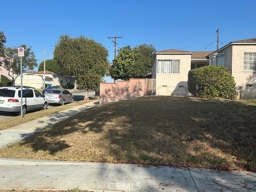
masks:
{"label": "cream stucco wall around the window at the far right edge", "polygon": [[[232,75],[242,99],[256,99],[256,71],[243,71],[244,52],[256,52],[256,45],[233,45]],[[252,84],[252,87],[247,87]]]}

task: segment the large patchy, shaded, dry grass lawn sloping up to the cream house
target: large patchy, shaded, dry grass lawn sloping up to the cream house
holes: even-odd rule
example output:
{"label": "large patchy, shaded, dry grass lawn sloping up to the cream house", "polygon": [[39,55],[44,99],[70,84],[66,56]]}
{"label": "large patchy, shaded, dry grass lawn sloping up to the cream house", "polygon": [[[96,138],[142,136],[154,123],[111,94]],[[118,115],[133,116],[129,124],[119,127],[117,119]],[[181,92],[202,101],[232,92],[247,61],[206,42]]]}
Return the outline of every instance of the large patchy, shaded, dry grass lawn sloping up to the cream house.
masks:
{"label": "large patchy, shaded, dry grass lawn sloping up to the cream house", "polygon": [[256,171],[256,101],[141,97],[95,106],[1,157]]}

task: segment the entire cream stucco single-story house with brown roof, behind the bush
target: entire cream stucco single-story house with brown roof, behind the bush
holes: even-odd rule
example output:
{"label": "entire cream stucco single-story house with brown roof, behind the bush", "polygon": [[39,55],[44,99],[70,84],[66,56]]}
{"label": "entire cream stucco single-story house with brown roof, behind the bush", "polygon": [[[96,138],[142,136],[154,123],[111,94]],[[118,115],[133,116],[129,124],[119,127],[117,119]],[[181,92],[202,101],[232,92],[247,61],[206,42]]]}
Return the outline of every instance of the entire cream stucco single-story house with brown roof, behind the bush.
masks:
{"label": "entire cream stucco single-story house with brown roof, behind the bush", "polygon": [[156,79],[156,95],[188,95],[188,71],[205,65],[226,66],[235,78],[239,97],[256,99],[256,38],[230,42],[210,52],[155,52],[152,78]]}

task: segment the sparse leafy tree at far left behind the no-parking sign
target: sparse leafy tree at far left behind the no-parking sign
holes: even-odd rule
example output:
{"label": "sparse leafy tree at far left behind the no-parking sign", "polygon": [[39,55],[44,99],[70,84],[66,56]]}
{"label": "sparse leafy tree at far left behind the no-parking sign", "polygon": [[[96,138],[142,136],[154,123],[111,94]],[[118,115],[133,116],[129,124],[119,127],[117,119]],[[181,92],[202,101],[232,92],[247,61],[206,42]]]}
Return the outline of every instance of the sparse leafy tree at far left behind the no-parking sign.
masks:
{"label": "sparse leafy tree at far left behind the no-parking sign", "polygon": [[[31,72],[37,66],[35,54],[31,51],[31,46],[20,45],[24,47],[24,57],[22,57],[22,72]],[[18,57],[18,47],[5,47],[3,61],[1,66],[9,71],[9,76],[12,78],[12,84],[15,79],[20,75],[20,57]],[[14,78],[10,72],[15,73],[17,76]]]}

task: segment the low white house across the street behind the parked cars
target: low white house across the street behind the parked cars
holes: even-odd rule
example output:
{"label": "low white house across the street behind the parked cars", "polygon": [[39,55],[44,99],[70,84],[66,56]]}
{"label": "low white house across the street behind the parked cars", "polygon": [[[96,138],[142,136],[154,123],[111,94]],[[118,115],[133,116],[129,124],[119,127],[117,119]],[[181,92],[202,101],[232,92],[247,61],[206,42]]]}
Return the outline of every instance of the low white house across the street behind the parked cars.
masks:
{"label": "low white house across the street behind the parked cars", "polygon": [[[36,71],[33,74],[23,74],[22,84],[35,87],[36,89],[42,89],[44,83],[43,74],[44,71]],[[75,79],[55,74],[52,71],[45,71],[45,84],[51,84],[52,86],[74,85]],[[20,85],[20,76],[17,77],[15,85]]]}

